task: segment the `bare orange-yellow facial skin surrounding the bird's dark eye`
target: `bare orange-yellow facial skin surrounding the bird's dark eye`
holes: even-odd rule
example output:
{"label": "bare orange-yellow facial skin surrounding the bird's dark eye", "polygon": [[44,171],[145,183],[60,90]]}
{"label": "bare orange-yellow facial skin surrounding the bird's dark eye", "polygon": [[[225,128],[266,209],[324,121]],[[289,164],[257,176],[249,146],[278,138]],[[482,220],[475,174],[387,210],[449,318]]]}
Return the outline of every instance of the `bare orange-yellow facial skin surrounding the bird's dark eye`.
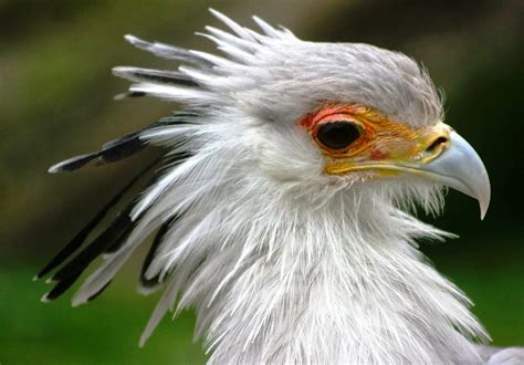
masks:
{"label": "bare orange-yellow facial skin surrounding the bird's dark eye", "polygon": [[[360,136],[348,146],[332,149],[317,138],[325,123],[353,122]],[[392,122],[384,114],[358,104],[326,103],[300,122],[326,156],[324,171],[342,175],[354,170],[373,170],[378,175],[398,173],[397,166],[410,163],[427,164],[447,148],[451,128],[437,123],[413,128]]]}

